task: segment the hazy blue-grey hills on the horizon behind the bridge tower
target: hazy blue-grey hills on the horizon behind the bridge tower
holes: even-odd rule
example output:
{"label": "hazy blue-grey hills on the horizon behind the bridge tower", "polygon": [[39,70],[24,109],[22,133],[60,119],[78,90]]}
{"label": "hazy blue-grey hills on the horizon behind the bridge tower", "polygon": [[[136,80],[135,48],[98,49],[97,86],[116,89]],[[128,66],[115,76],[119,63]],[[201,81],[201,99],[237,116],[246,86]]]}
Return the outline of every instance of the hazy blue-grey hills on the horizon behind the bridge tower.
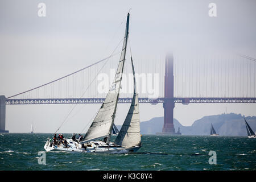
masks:
{"label": "hazy blue-grey hills on the horizon behind the bridge tower", "polygon": [[[241,114],[220,114],[209,115],[196,120],[192,126],[183,126],[174,119],[175,131],[180,127],[180,132],[183,135],[209,135],[210,123],[219,135],[226,136],[246,136],[246,127],[244,119],[249,123],[251,129],[256,131],[256,117],[244,117]],[[163,117],[152,118],[149,121],[141,122],[141,134],[156,134],[162,132]],[[121,129],[121,126],[117,126]]]}

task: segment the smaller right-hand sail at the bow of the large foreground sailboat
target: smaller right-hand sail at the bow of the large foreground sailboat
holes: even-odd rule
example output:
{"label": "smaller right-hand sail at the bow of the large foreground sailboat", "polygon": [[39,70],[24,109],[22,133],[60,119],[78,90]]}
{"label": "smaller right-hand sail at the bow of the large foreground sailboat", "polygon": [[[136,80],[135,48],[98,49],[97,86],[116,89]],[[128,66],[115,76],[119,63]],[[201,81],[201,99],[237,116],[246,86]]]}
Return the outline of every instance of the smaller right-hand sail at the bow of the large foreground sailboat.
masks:
{"label": "smaller right-hand sail at the bow of the large foreground sailboat", "polygon": [[128,114],[126,115],[125,122],[115,139],[115,144],[122,147],[133,147],[141,145],[141,130],[139,126],[139,100],[136,89],[135,72],[133,66],[133,58],[131,57],[131,66],[133,68],[133,80],[134,80],[134,94],[133,101]]}

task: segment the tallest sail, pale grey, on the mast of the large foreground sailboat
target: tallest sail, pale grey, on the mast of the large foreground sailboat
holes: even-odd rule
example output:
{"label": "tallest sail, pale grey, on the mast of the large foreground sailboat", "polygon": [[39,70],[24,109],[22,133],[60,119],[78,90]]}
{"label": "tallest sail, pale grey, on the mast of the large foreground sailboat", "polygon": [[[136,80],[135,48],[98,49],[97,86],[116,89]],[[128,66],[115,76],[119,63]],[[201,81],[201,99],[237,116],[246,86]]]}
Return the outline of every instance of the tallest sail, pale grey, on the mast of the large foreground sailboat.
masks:
{"label": "tallest sail, pale grey, on the mast of the large foreground sailboat", "polygon": [[121,57],[119,60],[117,72],[115,73],[114,81],[109,89],[105,101],[101,105],[96,117],[94,118],[92,125],[90,125],[87,133],[85,134],[85,139],[83,142],[88,142],[89,140],[108,137],[107,143],[109,143],[110,135],[112,132],[112,126],[115,118],[115,111],[117,110],[117,101],[119,97],[119,90],[122,80],[123,65],[125,64],[125,54],[128,39],[129,30],[129,16],[127,14],[125,38],[123,40],[123,47],[121,52]]}

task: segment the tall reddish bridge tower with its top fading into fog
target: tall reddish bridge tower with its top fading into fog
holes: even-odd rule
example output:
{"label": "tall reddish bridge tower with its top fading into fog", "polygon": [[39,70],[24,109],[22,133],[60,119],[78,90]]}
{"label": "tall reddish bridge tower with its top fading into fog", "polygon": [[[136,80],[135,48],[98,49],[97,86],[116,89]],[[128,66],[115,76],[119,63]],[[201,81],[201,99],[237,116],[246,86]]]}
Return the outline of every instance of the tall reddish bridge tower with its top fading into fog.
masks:
{"label": "tall reddish bridge tower with its top fading into fog", "polygon": [[174,129],[174,57],[172,54],[166,55],[165,75],[164,75],[164,126],[162,134],[180,135]]}

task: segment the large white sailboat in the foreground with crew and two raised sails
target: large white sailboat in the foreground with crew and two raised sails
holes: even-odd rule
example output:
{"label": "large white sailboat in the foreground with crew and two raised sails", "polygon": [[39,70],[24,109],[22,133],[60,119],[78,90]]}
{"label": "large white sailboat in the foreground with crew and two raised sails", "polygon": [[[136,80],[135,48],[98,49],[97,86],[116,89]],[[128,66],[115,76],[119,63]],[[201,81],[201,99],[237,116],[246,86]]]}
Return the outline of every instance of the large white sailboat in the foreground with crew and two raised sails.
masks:
{"label": "large white sailboat in the foreground with crew and two raised sails", "polygon": [[[61,150],[73,152],[127,153],[136,152],[141,147],[139,100],[132,56],[131,67],[133,69],[134,81],[133,100],[117,138],[115,138],[114,142],[110,142],[115,113],[117,111],[123,66],[125,64],[127,39],[129,35],[129,17],[130,13],[127,14],[125,38],[123,39],[121,57],[118,63],[117,72],[115,73],[114,81],[110,86],[109,92],[101,105],[100,110],[98,110],[96,117],[85,134],[84,139],[82,139],[81,142],[78,142],[76,139],[66,139],[65,143],[53,143],[52,139],[48,139],[44,145],[44,149],[46,151]],[[102,138],[103,140],[99,140]]]}

